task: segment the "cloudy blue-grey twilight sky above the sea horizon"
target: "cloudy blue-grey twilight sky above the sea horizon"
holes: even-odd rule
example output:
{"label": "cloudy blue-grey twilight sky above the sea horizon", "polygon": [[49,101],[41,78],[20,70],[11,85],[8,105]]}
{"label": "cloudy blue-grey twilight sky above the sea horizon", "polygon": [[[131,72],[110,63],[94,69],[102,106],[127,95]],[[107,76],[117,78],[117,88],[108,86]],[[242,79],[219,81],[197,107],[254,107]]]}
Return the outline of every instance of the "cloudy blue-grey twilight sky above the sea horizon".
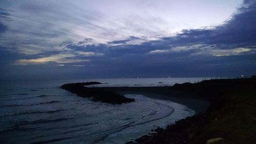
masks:
{"label": "cloudy blue-grey twilight sky above the sea horizon", "polygon": [[255,0],[1,1],[0,80],[256,75]]}

